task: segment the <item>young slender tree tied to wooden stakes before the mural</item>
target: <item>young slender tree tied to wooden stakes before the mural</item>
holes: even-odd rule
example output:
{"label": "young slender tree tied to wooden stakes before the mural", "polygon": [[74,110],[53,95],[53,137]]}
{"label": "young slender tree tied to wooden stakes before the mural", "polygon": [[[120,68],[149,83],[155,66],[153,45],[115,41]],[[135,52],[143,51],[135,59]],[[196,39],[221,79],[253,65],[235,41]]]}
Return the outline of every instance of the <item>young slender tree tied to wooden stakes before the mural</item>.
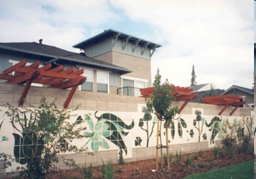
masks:
{"label": "young slender tree tied to wooden stakes before the mural", "polygon": [[[166,80],[164,84],[161,84],[161,76],[160,74],[157,74],[155,76],[154,84],[153,84],[153,93],[150,95],[150,98],[146,98],[146,105],[150,112],[154,111],[154,114],[156,117],[158,117],[158,128],[157,128],[157,134],[161,134],[161,125],[162,121],[164,121],[164,128],[166,129],[166,147],[167,147],[167,156],[168,156],[168,127],[170,127],[172,123],[172,119],[178,113],[178,107],[172,107],[172,101],[175,100],[175,97],[173,95],[174,88],[172,88],[172,84]],[[161,121],[161,124],[159,125],[159,122]],[[159,131],[160,126],[160,131]],[[157,144],[156,147],[158,147],[158,137],[157,135]],[[161,149],[161,161],[162,161],[162,136],[160,135],[160,149]],[[156,164],[156,170],[158,170],[158,149],[157,149],[157,164]],[[168,160],[168,168],[169,168],[169,160]],[[162,168],[162,162],[161,162],[161,168]]]}

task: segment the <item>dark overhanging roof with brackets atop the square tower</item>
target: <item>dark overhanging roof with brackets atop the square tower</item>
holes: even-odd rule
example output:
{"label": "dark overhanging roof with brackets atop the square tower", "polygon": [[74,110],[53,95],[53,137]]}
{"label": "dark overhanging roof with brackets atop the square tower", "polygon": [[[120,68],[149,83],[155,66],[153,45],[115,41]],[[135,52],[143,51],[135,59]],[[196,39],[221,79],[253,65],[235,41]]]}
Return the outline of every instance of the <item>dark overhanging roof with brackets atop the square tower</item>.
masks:
{"label": "dark overhanging roof with brackets atop the square tower", "polygon": [[73,47],[74,48],[80,48],[80,49],[84,49],[84,47],[90,45],[90,44],[94,44],[95,42],[98,42],[102,39],[106,39],[106,38],[112,38],[112,37],[115,37],[118,35],[118,38],[121,38],[121,39],[126,39],[126,38],[129,38],[129,41],[130,42],[134,42],[136,43],[138,40],[139,40],[139,43],[138,44],[141,44],[141,45],[146,45],[148,44],[148,48],[150,49],[154,49],[154,48],[158,48],[162,45],[160,44],[156,44],[154,42],[150,42],[148,40],[144,40],[142,38],[138,38],[136,36],[132,36],[132,35],[129,35],[129,34],[125,34],[123,32],[119,32],[117,30],[113,30],[113,29],[108,29],[108,30],[104,30],[104,32],[100,33],[100,34],[97,34],[96,36],[92,36],[91,38],[88,38],[87,40],[84,40],[78,44],[75,44]]}

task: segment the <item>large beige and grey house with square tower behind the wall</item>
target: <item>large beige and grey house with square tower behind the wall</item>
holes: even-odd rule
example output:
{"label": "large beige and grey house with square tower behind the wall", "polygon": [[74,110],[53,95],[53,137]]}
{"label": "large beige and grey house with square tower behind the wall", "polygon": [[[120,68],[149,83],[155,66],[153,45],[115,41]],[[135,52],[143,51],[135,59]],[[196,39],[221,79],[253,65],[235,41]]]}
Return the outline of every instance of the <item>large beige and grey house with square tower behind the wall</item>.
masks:
{"label": "large beige and grey house with square tower behind the wall", "polygon": [[42,39],[0,42],[0,74],[23,59],[28,65],[40,61],[41,66],[84,69],[87,80],[80,90],[136,96],[139,88],[151,86],[151,57],[160,46],[112,29],[74,45],[84,50],[80,54],[43,44]]}

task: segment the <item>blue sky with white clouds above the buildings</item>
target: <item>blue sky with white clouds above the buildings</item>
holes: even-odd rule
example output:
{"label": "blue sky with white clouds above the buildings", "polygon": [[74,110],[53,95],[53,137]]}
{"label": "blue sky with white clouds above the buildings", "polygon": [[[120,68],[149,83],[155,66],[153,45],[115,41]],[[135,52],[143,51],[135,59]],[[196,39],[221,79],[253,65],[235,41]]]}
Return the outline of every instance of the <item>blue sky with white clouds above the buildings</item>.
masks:
{"label": "blue sky with white clouds above the buildings", "polygon": [[[227,90],[253,87],[255,3],[246,0],[0,0],[0,42],[39,42],[64,50],[114,29],[157,44],[152,82]],[[253,17],[254,14],[254,17]],[[254,23],[253,23],[254,22]]]}

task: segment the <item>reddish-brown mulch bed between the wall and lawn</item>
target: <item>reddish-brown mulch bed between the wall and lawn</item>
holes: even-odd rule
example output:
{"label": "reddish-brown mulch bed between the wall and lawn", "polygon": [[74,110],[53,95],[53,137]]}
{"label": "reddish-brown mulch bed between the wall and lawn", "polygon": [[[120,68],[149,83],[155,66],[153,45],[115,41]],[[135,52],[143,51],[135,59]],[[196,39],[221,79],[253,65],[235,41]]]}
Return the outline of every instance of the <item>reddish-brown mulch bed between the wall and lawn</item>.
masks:
{"label": "reddish-brown mulch bed between the wall and lawn", "polygon": [[[186,165],[188,155],[192,156],[193,164],[191,166]],[[221,154],[219,154],[221,155]],[[195,159],[195,156],[198,156]],[[163,163],[159,164],[158,172],[152,172],[156,169],[156,159],[140,160],[137,162],[129,162],[126,164],[114,164],[115,177],[118,179],[124,178],[184,178],[186,176],[197,174],[201,172],[207,172],[208,170],[214,170],[216,168],[222,168],[225,166],[231,166],[248,160],[253,160],[253,154],[247,153],[235,153],[233,158],[229,158],[228,154],[225,157],[219,156],[215,158],[211,150],[200,151],[192,154],[183,154],[182,163],[177,164],[176,156],[172,164],[170,164],[170,170],[167,172],[167,167]],[[160,161],[160,160],[159,160]],[[196,166],[198,167],[196,167]],[[63,170],[58,174],[49,176],[50,178],[82,178],[82,175],[78,170]],[[98,167],[93,167],[93,178],[103,178]]]}

